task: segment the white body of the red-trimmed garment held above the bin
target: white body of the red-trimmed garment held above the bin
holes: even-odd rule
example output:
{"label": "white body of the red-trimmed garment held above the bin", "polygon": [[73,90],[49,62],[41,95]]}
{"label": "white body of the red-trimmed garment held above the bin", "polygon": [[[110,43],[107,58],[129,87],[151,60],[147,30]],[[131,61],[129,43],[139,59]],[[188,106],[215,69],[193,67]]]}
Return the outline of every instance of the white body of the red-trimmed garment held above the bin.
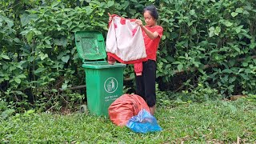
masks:
{"label": "white body of the red-trimmed garment held above the bin", "polygon": [[112,18],[106,36],[106,52],[115,54],[123,61],[146,58],[142,28],[130,19]]}

